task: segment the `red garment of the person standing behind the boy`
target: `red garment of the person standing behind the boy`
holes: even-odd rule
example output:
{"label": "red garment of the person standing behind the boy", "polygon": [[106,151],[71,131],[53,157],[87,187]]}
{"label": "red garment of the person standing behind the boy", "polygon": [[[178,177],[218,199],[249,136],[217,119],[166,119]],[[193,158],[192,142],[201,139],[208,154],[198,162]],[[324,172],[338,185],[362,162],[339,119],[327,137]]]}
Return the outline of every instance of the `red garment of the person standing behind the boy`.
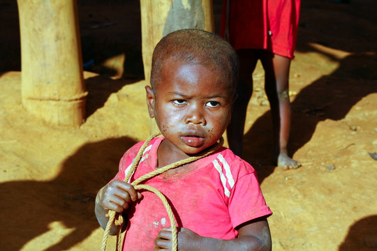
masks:
{"label": "red garment of the person standing behind the boy", "polygon": [[223,1],[220,35],[224,37],[228,20],[228,39],[235,50],[265,49],[293,59],[300,0],[228,1]]}

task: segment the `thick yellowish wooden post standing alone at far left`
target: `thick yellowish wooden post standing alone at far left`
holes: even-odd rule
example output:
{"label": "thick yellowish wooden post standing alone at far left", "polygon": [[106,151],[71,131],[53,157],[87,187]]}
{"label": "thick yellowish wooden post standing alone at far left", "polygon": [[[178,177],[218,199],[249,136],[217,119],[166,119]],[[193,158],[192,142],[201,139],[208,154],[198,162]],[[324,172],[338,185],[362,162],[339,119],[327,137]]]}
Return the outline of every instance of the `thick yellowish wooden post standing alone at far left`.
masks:
{"label": "thick yellowish wooden post standing alone at far left", "polygon": [[85,91],[75,0],[17,0],[22,103],[50,123],[80,126]]}

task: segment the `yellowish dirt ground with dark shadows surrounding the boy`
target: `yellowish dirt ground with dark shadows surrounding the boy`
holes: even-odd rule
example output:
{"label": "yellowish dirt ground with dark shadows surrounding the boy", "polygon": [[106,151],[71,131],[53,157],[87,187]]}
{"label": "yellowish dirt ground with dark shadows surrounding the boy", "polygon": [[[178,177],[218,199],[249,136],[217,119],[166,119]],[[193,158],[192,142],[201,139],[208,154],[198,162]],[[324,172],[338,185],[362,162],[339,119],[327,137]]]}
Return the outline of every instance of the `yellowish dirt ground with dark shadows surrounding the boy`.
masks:
{"label": "yellowish dirt ground with dark shadows surrounding the boy", "polygon": [[[17,3],[0,2],[0,250],[99,250],[96,191],[149,136],[138,1],[106,2],[78,1],[89,91],[80,128],[51,126],[22,107]],[[216,1],[216,26],[220,8]],[[253,73],[244,158],[274,212],[275,251],[377,250],[376,9],[374,0],[302,3],[289,149],[300,169],[271,164],[264,73],[260,65]]]}

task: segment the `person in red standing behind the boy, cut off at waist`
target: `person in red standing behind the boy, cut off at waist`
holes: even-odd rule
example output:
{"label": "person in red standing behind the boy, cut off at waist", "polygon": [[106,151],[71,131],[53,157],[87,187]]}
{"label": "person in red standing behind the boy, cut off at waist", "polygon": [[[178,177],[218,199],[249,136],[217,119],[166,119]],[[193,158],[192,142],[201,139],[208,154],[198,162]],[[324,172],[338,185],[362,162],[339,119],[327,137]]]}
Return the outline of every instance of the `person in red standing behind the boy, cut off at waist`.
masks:
{"label": "person in red standing behind the boy, cut off at waist", "polygon": [[220,34],[239,56],[238,98],[227,129],[230,149],[242,155],[246,109],[253,93],[258,60],[265,70],[265,91],[274,128],[274,162],[300,167],[288,156],[290,133],[289,70],[297,38],[300,0],[224,0]]}

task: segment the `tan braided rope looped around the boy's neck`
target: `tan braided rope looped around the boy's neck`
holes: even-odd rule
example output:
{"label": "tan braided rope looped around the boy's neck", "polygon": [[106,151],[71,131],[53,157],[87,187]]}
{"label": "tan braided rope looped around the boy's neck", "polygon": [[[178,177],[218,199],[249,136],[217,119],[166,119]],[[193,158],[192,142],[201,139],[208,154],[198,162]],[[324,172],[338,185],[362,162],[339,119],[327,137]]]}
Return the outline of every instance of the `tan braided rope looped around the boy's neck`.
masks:
{"label": "tan braided rope looped around the boy's neck", "polygon": [[[131,178],[131,175],[135,171],[136,167],[138,166],[138,164],[139,164],[139,162],[142,158],[142,153],[144,153],[149,142],[151,142],[151,139],[154,139],[154,137],[157,137],[160,134],[161,133],[158,132],[158,133],[155,133],[154,135],[151,135],[144,142],[144,144],[142,144],[142,146],[140,147],[140,149],[138,151],[138,155],[136,155],[135,159],[133,160],[133,163],[132,163],[130,170],[128,171],[126,177],[124,178],[125,182],[128,182],[129,179]],[[178,247],[177,225],[175,224],[174,214],[172,213],[172,208],[170,207],[168,200],[156,188],[152,188],[149,185],[138,185],[138,184],[141,183],[142,181],[146,181],[147,179],[152,178],[152,177],[154,177],[158,174],[162,174],[163,172],[166,172],[170,169],[173,169],[173,168],[176,168],[176,167],[179,167],[179,166],[182,166],[182,165],[186,165],[190,162],[194,162],[195,160],[199,160],[200,158],[204,158],[204,157],[214,153],[215,151],[217,151],[217,149],[219,149],[223,145],[223,142],[224,142],[223,137],[221,137],[219,143],[214,144],[210,149],[208,149],[204,153],[201,153],[200,155],[195,155],[195,156],[186,158],[184,160],[179,160],[179,161],[174,162],[170,165],[166,165],[165,167],[158,168],[158,169],[154,170],[153,172],[150,172],[149,174],[145,174],[145,175],[139,177],[138,179],[136,179],[135,181],[133,181],[131,183],[131,185],[133,185],[133,187],[136,190],[142,189],[142,190],[148,190],[149,192],[154,192],[154,194],[156,194],[157,197],[159,197],[161,199],[161,201],[163,202],[163,206],[165,206],[165,209],[168,212],[170,225],[171,225],[171,228],[172,228],[172,251],[177,251],[177,247]],[[117,219],[115,219],[116,215],[117,215]],[[110,233],[110,228],[112,226],[112,223],[114,223],[117,226],[121,226],[123,224],[123,218],[122,218],[121,214],[117,214],[115,211],[109,210],[108,213],[106,214],[106,217],[108,217],[109,220],[108,220],[108,225],[106,225],[105,232],[103,233],[101,251],[106,250],[106,243],[108,242],[108,236],[109,236],[109,233]],[[121,227],[119,228],[119,232],[117,233],[117,249],[116,250],[117,251],[121,250]]]}

